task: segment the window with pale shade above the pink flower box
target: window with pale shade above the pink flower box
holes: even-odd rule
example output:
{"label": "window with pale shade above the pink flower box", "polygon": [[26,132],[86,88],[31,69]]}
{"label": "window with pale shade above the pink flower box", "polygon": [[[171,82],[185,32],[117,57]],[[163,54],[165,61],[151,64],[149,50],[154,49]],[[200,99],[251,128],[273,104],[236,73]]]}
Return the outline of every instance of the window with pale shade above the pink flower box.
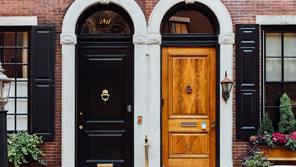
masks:
{"label": "window with pale shade above the pink flower box", "polygon": [[291,98],[292,112],[296,115],[296,30],[265,27],[263,38],[264,113],[268,113],[278,130],[280,98],[284,93]]}

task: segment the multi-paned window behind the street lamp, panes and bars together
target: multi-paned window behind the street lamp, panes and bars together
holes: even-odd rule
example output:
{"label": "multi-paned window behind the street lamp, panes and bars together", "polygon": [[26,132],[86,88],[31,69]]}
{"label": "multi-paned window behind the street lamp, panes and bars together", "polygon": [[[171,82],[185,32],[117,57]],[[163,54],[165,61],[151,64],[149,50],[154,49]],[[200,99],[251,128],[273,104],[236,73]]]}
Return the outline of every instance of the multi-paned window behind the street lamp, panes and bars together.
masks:
{"label": "multi-paned window behind the street lamp, panes and bars together", "polygon": [[[30,73],[30,32],[31,28],[6,27],[0,29],[0,61],[4,74],[13,79],[10,88],[9,101],[5,106],[7,113],[7,130],[28,129],[29,110],[28,102]],[[5,91],[8,91],[5,90]]]}

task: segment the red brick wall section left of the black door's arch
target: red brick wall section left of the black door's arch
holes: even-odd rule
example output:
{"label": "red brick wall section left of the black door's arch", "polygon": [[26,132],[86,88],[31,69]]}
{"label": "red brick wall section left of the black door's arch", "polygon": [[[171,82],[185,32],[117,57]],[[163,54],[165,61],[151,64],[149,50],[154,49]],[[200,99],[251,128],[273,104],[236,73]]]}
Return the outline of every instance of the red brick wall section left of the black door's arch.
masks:
{"label": "red brick wall section left of the black door's arch", "polygon": [[[62,110],[62,47],[60,34],[62,21],[69,6],[74,0],[1,0],[0,16],[37,16],[38,25],[55,26],[55,139],[46,140],[40,144],[46,156],[42,160],[48,167],[61,167],[61,110]],[[33,162],[22,167],[36,167],[40,164]],[[14,167],[9,164],[9,167]]]}

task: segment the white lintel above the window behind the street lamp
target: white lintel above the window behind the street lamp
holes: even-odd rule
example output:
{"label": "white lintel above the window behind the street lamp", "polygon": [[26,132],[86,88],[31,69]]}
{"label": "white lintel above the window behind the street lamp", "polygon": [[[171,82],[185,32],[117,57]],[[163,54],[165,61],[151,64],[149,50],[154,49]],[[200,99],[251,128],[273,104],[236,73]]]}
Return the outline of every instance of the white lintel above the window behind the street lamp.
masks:
{"label": "white lintel above the window behind the street lamp", "polygon": [[37,16],[1,16],[0,26],[37,26]]}

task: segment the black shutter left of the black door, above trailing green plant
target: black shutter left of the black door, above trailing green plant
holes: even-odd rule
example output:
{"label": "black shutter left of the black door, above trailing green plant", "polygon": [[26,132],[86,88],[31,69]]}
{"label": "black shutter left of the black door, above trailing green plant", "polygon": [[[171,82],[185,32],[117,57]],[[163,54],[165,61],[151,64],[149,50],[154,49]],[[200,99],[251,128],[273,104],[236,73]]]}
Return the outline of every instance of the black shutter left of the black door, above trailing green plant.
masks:
{"label": "black shutter left of the black door, above trailing green plant", "polygon": [[54,139],[55,31],[32,27],[32,133]]}

